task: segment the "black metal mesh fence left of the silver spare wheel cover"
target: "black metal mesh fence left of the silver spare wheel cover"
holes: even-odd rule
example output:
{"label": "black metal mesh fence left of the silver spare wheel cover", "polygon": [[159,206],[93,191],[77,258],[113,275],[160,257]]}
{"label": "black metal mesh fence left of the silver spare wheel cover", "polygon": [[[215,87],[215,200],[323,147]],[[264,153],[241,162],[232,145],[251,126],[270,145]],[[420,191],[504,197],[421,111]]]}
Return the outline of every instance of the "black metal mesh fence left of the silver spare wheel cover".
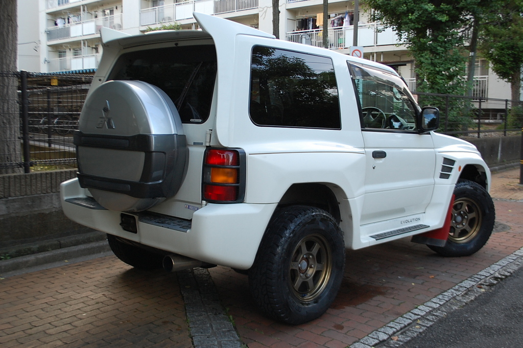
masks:
{"label": "black metal mesh fence left of the silver spare wheel cover", "polygon": [[[0,72],[2,74],[2,72]],[[16,78],[16,114],[0,115],[2,118],[18,117],[16,132],[7,132],[0,124],[4,142],[16,143],[21,156],[15,154],[3,159],[18,158],[18,161],[3,161],[0,170],[23,167],[25,173],[35,169],[63,169],[76,166],[76,151],[72,143],[72,131],[77,128],[78,117],[93,79],[90,75],[65,75],[28,73],[25,71],[3,73]],[[6,79],[1,79],[3,82]],[[0,89],[3,86],[0,85]],[[12,103],[3,100],[0,103]],[[7,134],[7,135],[6,135]],[[10,137],[9,137],[10,135]],[[1,150],[6,147],[1,147]],[[2,171],[0,171],[2,173]]]}

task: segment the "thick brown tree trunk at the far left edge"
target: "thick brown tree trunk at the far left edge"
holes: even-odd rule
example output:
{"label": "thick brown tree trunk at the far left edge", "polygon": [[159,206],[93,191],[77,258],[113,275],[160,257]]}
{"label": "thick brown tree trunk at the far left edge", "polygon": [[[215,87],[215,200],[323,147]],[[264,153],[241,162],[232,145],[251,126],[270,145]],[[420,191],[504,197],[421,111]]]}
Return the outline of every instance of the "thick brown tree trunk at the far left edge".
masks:
{"label": "thick brown tree trunk at the far left edge", "polygon": [[13,163],[21,163],[18,79],[15,74],[18,28],[16,4],[15,0],[0,1],[0,174],[22,172],[20,167],[10,167]]}

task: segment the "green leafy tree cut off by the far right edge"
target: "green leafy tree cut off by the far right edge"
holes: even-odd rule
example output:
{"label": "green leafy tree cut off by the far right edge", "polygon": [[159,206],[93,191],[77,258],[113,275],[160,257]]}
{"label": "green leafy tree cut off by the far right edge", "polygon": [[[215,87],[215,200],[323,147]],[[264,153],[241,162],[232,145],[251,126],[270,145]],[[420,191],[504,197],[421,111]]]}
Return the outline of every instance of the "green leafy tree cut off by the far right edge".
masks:
{"label": "green leafy tree cut off by the far right edge", "polygon": [[[510,98],[520,100],[523,65],[523,0],[497,2],[491,20],[482,27],[480,51],[492,70],[510,83]],[[513,105],[511,127],[521,127],[520,107]],[[519,120],[514,120],[514,118]],[[519,117],[517,117],[519,116]]]}

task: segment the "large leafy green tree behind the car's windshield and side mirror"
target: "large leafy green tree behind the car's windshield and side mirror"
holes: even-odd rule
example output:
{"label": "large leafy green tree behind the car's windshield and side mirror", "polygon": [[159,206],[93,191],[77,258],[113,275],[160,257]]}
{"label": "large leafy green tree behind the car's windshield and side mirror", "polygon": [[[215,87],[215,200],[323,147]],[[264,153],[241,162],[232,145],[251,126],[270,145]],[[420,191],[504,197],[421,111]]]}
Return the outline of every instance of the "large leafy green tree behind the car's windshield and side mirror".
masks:
{"label": "large leafy green tree behind the car's windshield and side mirror", "polygon": [[[501,0],[499,0],[501,1]],[[521,0],[518,0],[521,1]],[[398,33],[415,61],[418,92],[464,95],[468,52],[465,32],[473,19],[491,10],[487,0],[367,0],[377,10],[372,20]],[[437,97],[424,96],[422,105],[444,106]],[[441,106],[439,106],[441,109]],[[454,99],[446,112],[448,130],[467,127],[471,107]],[[463,124],[464,122],[464,124]]]}

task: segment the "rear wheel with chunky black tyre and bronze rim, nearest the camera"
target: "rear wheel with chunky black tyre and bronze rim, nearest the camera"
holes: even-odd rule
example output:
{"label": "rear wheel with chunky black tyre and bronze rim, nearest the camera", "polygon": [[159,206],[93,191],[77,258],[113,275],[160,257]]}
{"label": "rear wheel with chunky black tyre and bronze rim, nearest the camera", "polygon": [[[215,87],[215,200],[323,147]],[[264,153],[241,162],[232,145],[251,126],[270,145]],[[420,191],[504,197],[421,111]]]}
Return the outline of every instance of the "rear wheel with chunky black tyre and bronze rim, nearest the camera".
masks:
{"label": "rear wheel with chunky black tyre and bronze rim, nearest the camera", "polygon": [[269,223],[249,286],[268,316],[301,324],[331,306],[344,266],[343,234],[334,218],[319,208],[293,206]]}

